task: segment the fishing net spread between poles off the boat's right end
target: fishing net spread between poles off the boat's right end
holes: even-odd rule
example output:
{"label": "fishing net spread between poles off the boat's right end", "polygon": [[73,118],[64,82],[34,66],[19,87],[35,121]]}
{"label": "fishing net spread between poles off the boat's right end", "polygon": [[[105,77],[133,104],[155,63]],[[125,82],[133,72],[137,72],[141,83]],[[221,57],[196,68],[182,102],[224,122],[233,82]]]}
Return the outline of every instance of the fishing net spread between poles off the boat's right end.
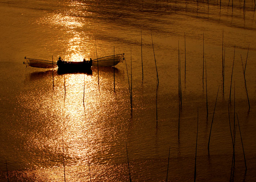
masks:
{"label": "fishing net spread between poles off the boat's right end", "polygon": [[114,66],[117,65],[119,62],[123,62],[124,60],[124,53],[123,54],[116,54],[110,55],[98,59],[93,60],[92,66]]}

